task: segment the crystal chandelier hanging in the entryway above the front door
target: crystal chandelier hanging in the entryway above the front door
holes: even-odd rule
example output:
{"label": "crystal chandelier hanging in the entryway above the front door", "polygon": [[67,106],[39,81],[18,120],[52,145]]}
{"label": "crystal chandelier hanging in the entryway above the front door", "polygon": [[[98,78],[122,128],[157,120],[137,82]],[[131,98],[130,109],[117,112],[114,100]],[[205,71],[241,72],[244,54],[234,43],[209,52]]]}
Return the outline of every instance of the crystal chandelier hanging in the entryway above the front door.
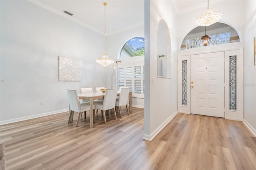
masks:
{"label": "crystal chandelier hanging in the entryway above the front door", "polygon": [[198,18],[196,18],[196,25],[198,26],[210,26],[215,22],[218,22],[222,18],[220,11],[214,11],[212,8],[209,8],[209,0],[207,4],[207,9],[204,13]]}

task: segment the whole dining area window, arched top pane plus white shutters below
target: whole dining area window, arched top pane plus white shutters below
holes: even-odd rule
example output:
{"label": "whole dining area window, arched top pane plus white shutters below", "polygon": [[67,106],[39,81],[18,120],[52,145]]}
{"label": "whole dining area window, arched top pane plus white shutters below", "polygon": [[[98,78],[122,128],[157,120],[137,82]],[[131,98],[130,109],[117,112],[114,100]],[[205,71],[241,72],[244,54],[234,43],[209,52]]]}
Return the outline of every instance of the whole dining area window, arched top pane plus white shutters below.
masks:
{"label": "whole dining area window, arched top pane plus white shutters below", "polygon": [[144,43],[143,37],[134,37],[127,41],[121,49],[117,61],[117,87],[129,87],[132,96],[144,98]]}

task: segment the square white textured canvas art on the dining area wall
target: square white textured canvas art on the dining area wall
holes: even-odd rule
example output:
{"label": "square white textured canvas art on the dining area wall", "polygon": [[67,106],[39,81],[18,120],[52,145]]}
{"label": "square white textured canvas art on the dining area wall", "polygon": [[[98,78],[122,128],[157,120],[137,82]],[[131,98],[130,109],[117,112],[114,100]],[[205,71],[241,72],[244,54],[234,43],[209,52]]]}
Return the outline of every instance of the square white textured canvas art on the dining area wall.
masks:
{"label": "square white textured canvas art on the dining area wall", "polygon": [[59,56],[59,81],[81,81],[81,60]]}

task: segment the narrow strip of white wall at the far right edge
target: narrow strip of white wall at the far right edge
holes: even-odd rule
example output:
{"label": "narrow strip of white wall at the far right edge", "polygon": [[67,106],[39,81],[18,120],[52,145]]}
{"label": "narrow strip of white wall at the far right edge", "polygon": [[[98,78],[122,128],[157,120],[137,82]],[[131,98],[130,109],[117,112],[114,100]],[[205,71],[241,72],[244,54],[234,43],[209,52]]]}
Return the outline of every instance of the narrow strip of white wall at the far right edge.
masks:
{"label": "narrow strip of white wall at the far right edge", "polygon": [[253,38],[256,37],[256,1],[245,1],[244,29],[244,123],[256,135],[256,66]]}

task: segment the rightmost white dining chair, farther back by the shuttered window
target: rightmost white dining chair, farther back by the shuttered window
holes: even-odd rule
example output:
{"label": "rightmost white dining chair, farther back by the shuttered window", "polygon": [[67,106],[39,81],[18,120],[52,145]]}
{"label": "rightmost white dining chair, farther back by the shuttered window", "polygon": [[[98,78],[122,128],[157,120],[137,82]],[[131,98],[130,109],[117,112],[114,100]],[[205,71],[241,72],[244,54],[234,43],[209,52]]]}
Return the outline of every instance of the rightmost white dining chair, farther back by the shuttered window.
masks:
{"label": "rightmost white dining chair, farther back by the shuttered window", "polygon": [[[122,117],[122,113],[121,113],[121,106],[126,106],[126,110],[128,112],[129,115],[129,111],[128,111],[128,97],[129,97],[129,87],[122,87],[120,89],[120,94],[119,94],[119,98],[116,99],[116,104],[115,106],[119,109],[119,113],[120,113],[120,117]],[[118,112],[116,109],[116,112]]]}

